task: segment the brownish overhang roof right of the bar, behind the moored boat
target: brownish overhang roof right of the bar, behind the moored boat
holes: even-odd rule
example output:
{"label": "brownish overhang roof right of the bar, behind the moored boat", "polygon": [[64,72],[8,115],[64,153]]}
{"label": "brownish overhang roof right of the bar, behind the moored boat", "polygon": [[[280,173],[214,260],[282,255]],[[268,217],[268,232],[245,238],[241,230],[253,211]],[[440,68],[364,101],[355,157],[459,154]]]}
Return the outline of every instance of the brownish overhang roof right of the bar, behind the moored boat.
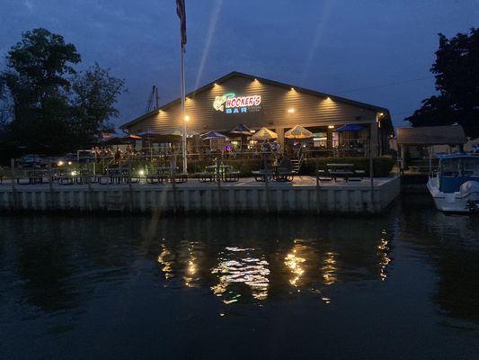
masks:
{"label": "brownish overhang roof right of the bar, behind the moored boat", "polygon": [[467,142],[460,125],[396,128],[398,145],[459,145]]}

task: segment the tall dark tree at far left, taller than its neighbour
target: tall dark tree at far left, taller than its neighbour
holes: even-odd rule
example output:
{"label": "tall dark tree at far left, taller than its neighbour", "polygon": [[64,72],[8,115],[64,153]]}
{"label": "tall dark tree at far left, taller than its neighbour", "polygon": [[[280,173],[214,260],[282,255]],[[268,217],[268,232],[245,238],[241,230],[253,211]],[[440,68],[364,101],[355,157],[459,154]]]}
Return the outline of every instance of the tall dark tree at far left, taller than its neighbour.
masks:
{"label": "tall dark tree at far left, taller than its neighbour", "polygon": [[1,77],[13,102],[12,138],[34,151],[67,148],[69,76],[81,57],[73,44],[45,29],[22,34]]}

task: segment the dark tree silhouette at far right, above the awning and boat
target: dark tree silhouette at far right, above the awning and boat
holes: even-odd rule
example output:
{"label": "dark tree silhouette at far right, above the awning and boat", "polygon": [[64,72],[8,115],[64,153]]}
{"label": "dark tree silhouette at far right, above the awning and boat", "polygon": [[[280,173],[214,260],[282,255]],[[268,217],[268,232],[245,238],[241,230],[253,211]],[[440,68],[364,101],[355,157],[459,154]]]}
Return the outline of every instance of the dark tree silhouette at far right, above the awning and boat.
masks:
{"label": "dark tree silhouette at far right, above the awning and boat", "polygon": [[439,92],[422,101],[421,109],[404,119],[412,126],[459,123],[472,138],[479,137],[479,29],[448,39],[439,33],[436,61]]}

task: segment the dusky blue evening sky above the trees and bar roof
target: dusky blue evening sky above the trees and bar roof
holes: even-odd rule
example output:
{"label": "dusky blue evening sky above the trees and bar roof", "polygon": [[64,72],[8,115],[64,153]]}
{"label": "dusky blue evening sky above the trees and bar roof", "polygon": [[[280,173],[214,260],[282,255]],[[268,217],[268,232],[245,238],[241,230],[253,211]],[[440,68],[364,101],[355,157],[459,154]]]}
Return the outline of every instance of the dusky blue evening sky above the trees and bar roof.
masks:
{"label": "dusky blue evening sky above the trees and bar roof", "polygon": [[[237,70],[385,106],[398,125],[434,92],[437,33],[479,26],[479,0],[186,0],[186,7],[187,90]],[[174,0],[2,0],[0,54],[34,27],[73,42],[84,66],[97,61],[126,80],[117,124],[145,112],[151,85],[161,103],[179,95]],[[396,85],[375,87],[387,84]]]}

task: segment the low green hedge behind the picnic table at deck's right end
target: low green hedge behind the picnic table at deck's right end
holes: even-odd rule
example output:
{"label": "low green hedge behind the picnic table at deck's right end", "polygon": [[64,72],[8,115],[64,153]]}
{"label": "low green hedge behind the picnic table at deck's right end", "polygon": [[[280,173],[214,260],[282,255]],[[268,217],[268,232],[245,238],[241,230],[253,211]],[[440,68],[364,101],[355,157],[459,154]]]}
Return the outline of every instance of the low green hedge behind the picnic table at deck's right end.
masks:
{"label": "low green hedge behind the picnic table at deck's right end", "polygon": [[[326,164],[353,164],[355,169],[366,171],[369,175],[369,159],[368,157],[318,157],[308,158],[302,167],[302,174],[315,175],[316,168],[325,168]],[[373,174],[375,176],[389,175],[395,166],[393,157],[376,157],[373,161]]]}

